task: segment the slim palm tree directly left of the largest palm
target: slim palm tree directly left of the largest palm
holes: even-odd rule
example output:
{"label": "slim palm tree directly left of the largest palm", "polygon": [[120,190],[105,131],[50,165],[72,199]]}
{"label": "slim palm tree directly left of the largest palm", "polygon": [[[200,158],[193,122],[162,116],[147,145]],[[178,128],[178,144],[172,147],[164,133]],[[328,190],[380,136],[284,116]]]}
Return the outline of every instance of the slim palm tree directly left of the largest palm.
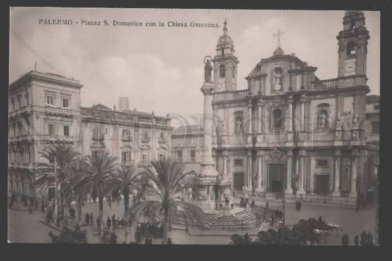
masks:
{"label": "slim palm tree directly left of the largest palm", "polygon": [[127,242],[129,232],[128,226],[130,225],[129,198],[130,195],[132,195],[135,203],[135,201],[139,199],[139,197],[142,195],[144,186],[141,179],[139,179],[133,174],[133,169],[128,168],[124,165],[121,165],[121,168],[117,171],[115,177],[117,179],[117,190],[114,190],[114,192],[112,192],[112,196],[114,196],[115,199],[119,201],[121,200],[121,195],[123,195],[124,218],[126,220],[126,224],[124,224],[124,232],[125,242]]}

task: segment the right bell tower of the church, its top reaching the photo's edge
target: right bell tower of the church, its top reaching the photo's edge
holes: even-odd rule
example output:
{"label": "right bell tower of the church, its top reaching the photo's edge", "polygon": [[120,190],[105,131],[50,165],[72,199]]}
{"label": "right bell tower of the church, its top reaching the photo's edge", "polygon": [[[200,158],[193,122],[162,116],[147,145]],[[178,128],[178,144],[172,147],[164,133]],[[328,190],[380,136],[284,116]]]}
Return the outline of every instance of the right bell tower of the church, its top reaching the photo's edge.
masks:
{"label": "right bell tower of the church, its top reaching the photo's edge", "polygon": [[339,44],[338,77],[366,75],[369,32],[365,27],[365,15],[361,11],[346,11],[343,30],[336,36]]}

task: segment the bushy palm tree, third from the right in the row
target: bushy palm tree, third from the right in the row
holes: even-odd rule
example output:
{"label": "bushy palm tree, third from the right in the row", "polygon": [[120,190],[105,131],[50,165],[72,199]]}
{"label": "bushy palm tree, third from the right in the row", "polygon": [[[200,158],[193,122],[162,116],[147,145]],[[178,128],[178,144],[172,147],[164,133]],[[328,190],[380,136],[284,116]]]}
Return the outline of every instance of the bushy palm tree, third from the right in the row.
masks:
{"label": "bushy palm tree, third from the right in the row", "polygon": [[112,192],[117,188],[116,156],[109,152],[98,152],[86,157],[87,171],[80,172],[76,178],[74,192],[83,195],[86,192],[95,202],[99,199],[99,217],[101,219],[100,231],[103,230],[103,198],[108,204],[112,203]]}

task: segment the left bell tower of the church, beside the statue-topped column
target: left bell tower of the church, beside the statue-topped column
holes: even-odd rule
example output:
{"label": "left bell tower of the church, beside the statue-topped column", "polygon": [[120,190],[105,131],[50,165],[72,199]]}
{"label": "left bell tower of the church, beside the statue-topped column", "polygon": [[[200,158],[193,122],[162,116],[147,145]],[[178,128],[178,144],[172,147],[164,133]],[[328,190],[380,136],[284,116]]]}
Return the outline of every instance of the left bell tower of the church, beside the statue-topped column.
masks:
{"label": "left bell tower of the church, beside the statue-topped column", "polygon": [[234,44],[228,35],[227,21],[224,21],[223,35],[216,44],[214,62],[214,90],[235,91],[237,89],[237,65]]}

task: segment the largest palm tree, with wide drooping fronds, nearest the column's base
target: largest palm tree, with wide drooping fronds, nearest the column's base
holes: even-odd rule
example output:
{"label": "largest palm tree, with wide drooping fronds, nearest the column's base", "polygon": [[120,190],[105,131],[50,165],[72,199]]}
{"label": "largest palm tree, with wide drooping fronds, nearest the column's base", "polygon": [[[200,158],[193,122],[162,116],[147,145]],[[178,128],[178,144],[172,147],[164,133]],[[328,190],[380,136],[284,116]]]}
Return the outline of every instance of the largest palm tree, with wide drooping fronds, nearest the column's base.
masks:
{"label": "largest palm tree, with wide drooping fronds, nearest the column's base", "polygon": [[151,181],[153,188],[146,189],[144,195],[148,197],[146,197],[146,200],[135,204],[130,213],[133,220],[139,219],[142,215],[156,220],[157,215],[163,214],[162,243],[165,244],[168,237],[169,221],[173,215],[176,215],[179,207],[200,224],[204,223],[204,213],[201,208],[182,198],[182,191],[185,188],[196,188],[198,186],[196,177],[185,173],[183,163],[160,159],[159,161],[151,161],[151,165],[153,165],[153,170],[147,168],[146,172],[142,174],[148,177],[148,181]]}

